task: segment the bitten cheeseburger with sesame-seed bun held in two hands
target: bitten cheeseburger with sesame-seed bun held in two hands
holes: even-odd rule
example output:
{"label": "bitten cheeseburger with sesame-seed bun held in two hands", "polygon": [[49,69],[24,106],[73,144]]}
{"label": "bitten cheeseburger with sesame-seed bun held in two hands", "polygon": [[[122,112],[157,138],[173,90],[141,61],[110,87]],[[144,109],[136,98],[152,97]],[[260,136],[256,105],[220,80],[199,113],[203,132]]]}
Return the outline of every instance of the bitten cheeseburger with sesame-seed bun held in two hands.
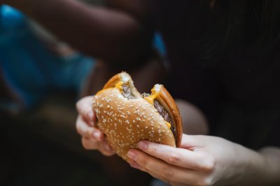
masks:
{"label": "bitten cheeseburger with sesame-seed bun held in two hands", "polygon": [[161,84],[155,84],[151,93],[140,94],[130,75],[121,72],[94,95],[92,108],[97,127],[124,160],[128,160],[127,151],[137,148],[141,140],[174,147],[181,144],[180,112]]}

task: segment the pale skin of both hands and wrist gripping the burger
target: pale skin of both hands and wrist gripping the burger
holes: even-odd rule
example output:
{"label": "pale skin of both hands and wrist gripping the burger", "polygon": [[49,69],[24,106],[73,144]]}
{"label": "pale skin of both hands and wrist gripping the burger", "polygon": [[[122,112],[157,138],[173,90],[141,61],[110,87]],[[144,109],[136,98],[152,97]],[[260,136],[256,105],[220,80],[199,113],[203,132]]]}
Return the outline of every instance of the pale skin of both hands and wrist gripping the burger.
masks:
{"label": "pale skin of both hands and wrist gripping the burger", "polygon": [[[77,103],[76,127],[83,146],[114,155],[104,134],[94,127],[96,118],[91,102],[92,98],[86,97]],[[130,165],[172,185],[274,186],[280,183],[277,147],[254,151],[219,137],[183,134],[179,148],[140,141],[139,149],[127,154]]]}

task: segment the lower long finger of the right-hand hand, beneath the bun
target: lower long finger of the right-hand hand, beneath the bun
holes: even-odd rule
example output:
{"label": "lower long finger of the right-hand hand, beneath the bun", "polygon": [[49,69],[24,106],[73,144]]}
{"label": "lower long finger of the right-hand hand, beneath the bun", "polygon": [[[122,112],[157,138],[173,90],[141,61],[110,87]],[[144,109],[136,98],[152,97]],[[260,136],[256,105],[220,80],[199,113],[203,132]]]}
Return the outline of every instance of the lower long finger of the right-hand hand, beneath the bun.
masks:
{"label": "lower long finger of the right-hand hand, beneath the bun", "polygon": [[203,178],[199,171],[168,164],[139,150],[130,150],[127,156],[137,162],[140,169],[147,169],[149,173],[158,174],[160,178],[166,178],[170,182],[198,185]]}

